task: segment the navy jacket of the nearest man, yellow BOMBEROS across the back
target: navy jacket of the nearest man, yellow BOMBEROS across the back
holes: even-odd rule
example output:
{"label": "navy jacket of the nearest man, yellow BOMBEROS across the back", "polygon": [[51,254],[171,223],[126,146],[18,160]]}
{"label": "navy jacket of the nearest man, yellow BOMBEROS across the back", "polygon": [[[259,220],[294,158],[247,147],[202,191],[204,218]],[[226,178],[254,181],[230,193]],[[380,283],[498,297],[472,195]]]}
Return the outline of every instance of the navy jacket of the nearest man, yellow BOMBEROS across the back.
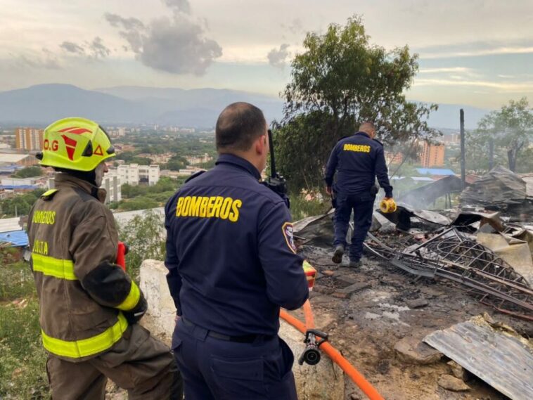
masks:
{"label": "navy jacket of the nearest man, yellow BOMBEROS across the back", "polygon": [[276,335],[309,296],[290,213],[250,162],[219,156],[167,202],[167,279],[179,315],[224,335]]}

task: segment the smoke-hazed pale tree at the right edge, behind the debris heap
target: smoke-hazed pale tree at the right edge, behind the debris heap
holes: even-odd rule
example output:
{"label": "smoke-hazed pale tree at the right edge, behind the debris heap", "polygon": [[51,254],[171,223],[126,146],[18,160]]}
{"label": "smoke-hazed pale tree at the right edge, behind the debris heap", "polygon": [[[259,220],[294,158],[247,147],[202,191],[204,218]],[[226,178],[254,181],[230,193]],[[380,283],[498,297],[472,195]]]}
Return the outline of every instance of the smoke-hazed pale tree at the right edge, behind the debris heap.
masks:
{"label": "smoke-hazed pale tree at the right edge, behind the debris heap", "polygon": [[[530,172],[529,144],[533,139],[533,108],[527,98],[509,101],[501,110],[485,115],[468,135],[468,166],[489,169],[489,146],[494,146],[494,166],[507,165],[514,172]],[[527,166],[527,167],[526,167]]]}

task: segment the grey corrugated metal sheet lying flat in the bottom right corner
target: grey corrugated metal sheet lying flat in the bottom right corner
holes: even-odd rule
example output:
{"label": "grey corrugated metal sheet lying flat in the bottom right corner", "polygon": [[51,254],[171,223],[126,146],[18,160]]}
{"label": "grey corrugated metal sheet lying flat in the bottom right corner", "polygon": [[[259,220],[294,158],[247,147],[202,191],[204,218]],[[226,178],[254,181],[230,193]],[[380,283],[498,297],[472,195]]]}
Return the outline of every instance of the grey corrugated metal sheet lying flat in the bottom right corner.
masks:
{"label": "grey corrugated metal sheet lying flat in the bottom right corner", "polygon": [[424,342],[513,400],[533,399],[533,344],[492,328],[482,316],[426,336]]}

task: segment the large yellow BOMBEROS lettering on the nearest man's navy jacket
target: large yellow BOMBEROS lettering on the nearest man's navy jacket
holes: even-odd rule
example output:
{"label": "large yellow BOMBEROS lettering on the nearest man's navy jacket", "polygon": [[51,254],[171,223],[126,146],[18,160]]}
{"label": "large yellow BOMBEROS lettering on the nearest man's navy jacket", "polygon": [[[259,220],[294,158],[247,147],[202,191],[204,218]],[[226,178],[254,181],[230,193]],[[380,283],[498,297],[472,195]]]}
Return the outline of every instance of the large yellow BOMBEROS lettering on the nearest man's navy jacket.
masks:
{"label": "large yellow BOMBEROS lettering on the nearest man's navy jacket", "polygon": [[236,222],[243,201],[222,196],[185,196],[178,199],[176,217],[219,218]]}

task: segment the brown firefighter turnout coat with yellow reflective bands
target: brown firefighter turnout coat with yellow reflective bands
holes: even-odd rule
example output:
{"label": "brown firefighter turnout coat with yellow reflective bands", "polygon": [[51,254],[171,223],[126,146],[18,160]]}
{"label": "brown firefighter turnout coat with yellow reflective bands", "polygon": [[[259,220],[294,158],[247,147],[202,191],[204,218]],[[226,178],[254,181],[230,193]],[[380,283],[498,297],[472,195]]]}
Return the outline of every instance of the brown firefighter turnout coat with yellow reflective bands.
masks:
{"label": "brown firefighter turnout coat with yellow reflective bands", "polygon": [[31,267],[44,347],[83,361],[113,347],[127,316],[146,301],[115,265],[117,229],[105,191],[69,174],[41,196],[28,217]]}

